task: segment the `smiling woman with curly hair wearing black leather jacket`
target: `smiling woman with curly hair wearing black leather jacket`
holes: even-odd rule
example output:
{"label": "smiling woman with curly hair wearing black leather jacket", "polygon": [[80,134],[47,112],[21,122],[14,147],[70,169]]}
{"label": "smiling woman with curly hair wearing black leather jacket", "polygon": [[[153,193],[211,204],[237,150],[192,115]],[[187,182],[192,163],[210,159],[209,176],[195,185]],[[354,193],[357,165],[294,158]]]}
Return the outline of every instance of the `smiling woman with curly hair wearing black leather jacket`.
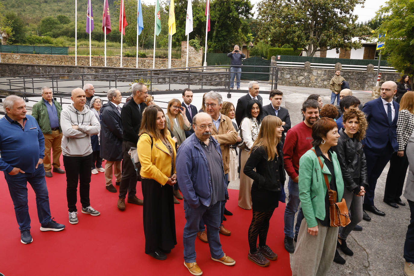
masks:
{"label": "smiling woman with curly hair wearing black leather jacket", "polygon": [[[351,211],[351,223],[339,230],[337,246],[342,252],[352,256],[354,252],[347,246],[347,237],[362,220],[362,196],[368,186],[366,160],[361,143],[368,123],[362,111],[351,108],[343,113],[343,124],[344,128],[339,130],[340,137],[334,150],[341,166],[345,186],[343,197]],[[334,262],[345,263],[338,251],[335,252]]]}

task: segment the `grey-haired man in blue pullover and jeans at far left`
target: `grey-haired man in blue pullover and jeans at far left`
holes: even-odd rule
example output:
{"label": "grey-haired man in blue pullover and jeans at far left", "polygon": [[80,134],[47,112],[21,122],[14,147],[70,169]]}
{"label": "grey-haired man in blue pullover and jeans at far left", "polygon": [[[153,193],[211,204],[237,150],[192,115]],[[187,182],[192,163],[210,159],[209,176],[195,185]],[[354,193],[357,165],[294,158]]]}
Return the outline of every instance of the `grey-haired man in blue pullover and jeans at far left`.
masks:
{"label": "grey-haired man in blue pullover and jeans at far left", "polygon": [[4,172],[13,200],[20,241],[27,244],[33,241],[30,235],[27,182],[36,193],[40,230],[60,231],[65,226],[51,218],[43,167],[45,139],[39,124],[32,116],[26,115],[26,104],[19,96],[7,96],[3,108],[6,115],[0,119],[0,170]]}

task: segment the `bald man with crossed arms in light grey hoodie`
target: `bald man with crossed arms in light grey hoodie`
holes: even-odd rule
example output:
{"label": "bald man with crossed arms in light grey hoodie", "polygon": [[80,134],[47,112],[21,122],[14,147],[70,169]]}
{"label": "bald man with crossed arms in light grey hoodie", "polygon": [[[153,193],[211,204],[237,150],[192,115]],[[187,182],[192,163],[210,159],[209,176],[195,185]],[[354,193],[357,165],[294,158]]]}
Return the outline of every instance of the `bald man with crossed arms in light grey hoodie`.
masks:
{"label": "bald man with crossed arms in light grey hoodie", "polygon": [[69,223],[78,223],[77,186],[79,182],[82,213],[99,216],[101,213],[91,207],[89,184],[91,182],[92,146],[91,135],[101,130],[101,125],[92,110],[85,107],[86,94],[82,88],[72,90],[73,103],[60,113],[62,127],[63,165],[66,170],[66,197],[69,209]]}

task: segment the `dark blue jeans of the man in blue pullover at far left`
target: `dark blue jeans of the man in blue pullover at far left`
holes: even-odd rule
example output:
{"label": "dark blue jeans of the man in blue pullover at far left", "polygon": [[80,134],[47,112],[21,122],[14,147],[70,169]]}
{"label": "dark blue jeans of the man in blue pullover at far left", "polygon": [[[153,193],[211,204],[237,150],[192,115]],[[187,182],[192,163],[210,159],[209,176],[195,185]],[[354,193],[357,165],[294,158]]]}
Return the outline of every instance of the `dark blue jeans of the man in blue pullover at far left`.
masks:
{"label": "dark blue jeans of the man in blue pullover at far left", "polygon": [[51,221],[51,209],[49,207],[49,193],[46,187],[45,168],[43,164],[34,173],[18,173],[10,175],[4,172],[7,185],[9,186],[10,197],[14,204],[17,223],[20,231],[30,230],[29,206],[27,205],[27,182],[30,183],[36,194],[37,216],[39,222],[46,224]]}

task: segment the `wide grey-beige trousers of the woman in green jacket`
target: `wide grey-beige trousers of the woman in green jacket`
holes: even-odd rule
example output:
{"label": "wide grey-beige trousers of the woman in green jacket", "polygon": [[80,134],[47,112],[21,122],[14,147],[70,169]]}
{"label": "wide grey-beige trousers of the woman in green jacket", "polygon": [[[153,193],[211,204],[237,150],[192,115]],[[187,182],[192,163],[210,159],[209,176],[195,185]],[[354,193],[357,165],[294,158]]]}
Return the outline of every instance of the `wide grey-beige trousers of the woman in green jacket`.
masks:
{"label": "wide grey-beige trousers of the woman in green jacket", "polygon": [[308,233],[306,218],[299,229],[293,254],[292,276],[324,276],[335,257],[338,227],[322,226],[318,221],[318,235]]}

